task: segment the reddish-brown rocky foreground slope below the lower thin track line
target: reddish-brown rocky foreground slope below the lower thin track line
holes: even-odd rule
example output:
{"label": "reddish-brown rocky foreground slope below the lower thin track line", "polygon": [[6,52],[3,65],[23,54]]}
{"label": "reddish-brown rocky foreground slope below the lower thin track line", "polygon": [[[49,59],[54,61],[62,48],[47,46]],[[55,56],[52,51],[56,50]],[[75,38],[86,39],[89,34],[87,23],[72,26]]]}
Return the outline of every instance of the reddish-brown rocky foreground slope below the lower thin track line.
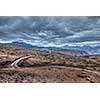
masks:
{"label": "reddish-brown rocky foreground slope below the lower thin track line", "polygon": [[0,82],[95,83],[100,82],[100,73],[65,66],[3,68],[0,69]]}

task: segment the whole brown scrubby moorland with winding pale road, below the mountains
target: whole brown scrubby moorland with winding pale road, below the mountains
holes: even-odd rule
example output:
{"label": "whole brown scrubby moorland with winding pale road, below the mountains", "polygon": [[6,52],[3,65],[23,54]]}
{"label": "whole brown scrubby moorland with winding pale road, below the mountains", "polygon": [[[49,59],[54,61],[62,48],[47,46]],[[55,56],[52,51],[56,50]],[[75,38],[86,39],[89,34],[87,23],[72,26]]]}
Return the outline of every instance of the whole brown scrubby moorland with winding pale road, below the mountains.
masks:
{"label": "whole brown scrubby moorland with winding pale road, below the mountains", "polygon": [[71,56],[0,46],[0,82],[100,82],[100,55]]}

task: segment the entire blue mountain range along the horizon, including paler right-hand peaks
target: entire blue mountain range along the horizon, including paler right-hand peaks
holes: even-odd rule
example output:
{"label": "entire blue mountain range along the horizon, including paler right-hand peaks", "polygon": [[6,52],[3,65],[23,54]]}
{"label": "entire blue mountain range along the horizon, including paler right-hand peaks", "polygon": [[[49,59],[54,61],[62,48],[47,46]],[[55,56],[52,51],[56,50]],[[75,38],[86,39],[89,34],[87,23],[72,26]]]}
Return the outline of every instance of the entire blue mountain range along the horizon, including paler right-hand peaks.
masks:
{"label": "entire blue mountain range along the horizon, including paler right-hand peaks", "polygon": [[0,45],[5,46],[15,46],[27,49],[37,49],[37,50],[47,50],[47,51],[55,51],[59,53],[64,53],[67,55],[87,55],[87,54],[100,54],[100,46],[64,46],[64,47],[39,47],[33,46],[24,42],[12,42],[12,43],[1,43]]}

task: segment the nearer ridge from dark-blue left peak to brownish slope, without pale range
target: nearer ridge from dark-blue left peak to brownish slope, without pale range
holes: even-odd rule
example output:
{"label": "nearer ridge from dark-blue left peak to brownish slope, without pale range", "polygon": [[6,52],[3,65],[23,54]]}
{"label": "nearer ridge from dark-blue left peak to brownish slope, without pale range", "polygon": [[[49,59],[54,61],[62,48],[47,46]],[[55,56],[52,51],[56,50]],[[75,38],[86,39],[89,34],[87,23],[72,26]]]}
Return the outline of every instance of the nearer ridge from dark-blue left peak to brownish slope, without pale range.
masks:
{"label": "nearer ridge from dark-blue left peak to brownish slope, without pale range", "polygon": [[57,53],[62,53],[66,55],[72,55],[72,56],[84,56],[88,55],[87,52],[83,50],[71,50],[71,49],[63,49],[58,47],[38,47],[38,46],[32,46],[30,44],[24,43],[24,42],[13,42],[13,43],[2,43],[1,46],[11,46],[11,47],[21,47],[21,48],[27,48],[27,49],[35,49],[35,50],[45,50],[45,51],[52,51]]}

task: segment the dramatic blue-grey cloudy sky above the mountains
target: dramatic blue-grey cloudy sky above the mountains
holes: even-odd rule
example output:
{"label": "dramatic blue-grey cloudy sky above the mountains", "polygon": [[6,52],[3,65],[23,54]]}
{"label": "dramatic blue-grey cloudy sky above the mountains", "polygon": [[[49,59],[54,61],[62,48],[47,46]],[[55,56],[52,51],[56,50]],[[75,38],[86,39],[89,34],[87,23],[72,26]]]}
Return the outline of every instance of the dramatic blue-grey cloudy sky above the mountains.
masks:
{"label": "dramatic blue-grey cloudy sky above the mountains", "polygon": [[99,45],[100,17],[0,17],[0,42],[37,46]]}

